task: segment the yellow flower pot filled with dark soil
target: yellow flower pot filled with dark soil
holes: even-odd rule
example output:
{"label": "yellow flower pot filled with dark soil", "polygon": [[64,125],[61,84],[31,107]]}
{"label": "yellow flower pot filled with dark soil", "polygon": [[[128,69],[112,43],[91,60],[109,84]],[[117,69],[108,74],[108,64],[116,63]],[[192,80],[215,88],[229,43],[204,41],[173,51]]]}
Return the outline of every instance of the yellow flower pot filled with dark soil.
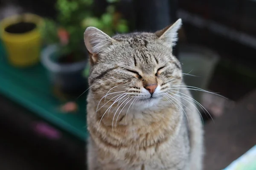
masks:
{"label": "yellow flower pot filled with dark soil", "polygon": [[35,14],[15,15],[0,22],[0,37],[12,65],[27,67],[39,62],[41,23],[42,18]]}

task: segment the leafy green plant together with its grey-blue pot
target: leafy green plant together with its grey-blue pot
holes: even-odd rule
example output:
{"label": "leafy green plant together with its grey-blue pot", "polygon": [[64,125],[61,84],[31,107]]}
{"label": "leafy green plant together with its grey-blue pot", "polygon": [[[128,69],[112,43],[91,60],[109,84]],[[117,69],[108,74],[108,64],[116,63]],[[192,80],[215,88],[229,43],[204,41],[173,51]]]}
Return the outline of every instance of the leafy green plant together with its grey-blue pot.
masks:
{"label": "leafy green plant together with its grey-blue pot", "polygon": [[41,60],[54,87],[65,94],[77,96],[87,88],[89,65],[84,30],[95,26],[108,34],[128,31],[126,21],[112,4],[101,17],[94,17],[92,3],[93,0],[57,0],[56,20],[44,20],[42,32],[47,46]]}

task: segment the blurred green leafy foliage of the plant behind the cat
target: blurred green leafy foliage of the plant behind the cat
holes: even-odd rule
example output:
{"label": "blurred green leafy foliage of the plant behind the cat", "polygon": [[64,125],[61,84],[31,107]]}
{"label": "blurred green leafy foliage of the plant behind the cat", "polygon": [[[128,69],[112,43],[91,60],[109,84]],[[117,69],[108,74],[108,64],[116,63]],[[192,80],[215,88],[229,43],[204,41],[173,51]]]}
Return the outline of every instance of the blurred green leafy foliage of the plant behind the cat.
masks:
{"label": "blurred green leafy foliage of the plant behind the cat", "polygon": [[81,56],[84,48],[83,33],[88,26],[101,29],[106,34],[128,31],[126,20],[116,12],[113,3],[118,0],[108,0],[110,5],[101,17],[94,17],[92,9],[93,0],[57,0],[56,20],[45,19],[42,33],[46,44],[59,43],[62,45],[61,55]]}

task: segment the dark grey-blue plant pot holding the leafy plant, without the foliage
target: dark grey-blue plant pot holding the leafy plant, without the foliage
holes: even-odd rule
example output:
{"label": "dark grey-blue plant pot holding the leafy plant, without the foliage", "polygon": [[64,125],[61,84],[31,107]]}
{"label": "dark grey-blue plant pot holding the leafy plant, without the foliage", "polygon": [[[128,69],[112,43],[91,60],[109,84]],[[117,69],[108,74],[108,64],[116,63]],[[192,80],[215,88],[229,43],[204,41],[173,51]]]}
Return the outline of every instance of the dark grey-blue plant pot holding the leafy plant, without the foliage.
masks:
{"label": "dark grey-blue plant pot holding the leafy plant, without the foliage", "polygon": [[50,82],[55,90],[69,97],[78,97],[88,88],[87,77],[83,75],[88,59],[85,57],[79,62],[59,63],[53,59],[57,51],[58,45],[49,45],[42,52],[41,61],[47,68]]}

